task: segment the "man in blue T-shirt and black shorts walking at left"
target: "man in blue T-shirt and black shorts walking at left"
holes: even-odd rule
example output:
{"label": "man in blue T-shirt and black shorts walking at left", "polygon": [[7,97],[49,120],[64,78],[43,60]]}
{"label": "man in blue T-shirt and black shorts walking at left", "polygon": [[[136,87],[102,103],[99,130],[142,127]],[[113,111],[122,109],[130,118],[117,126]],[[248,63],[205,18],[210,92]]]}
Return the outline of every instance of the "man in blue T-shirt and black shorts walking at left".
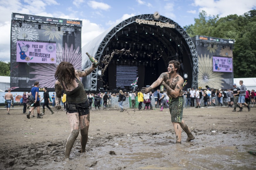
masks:
{"label": "man in blue T-shirt and black shorts walking at left", "polygon": [[37,117],[36,118],[43,118],[42,116],[40,116],[40,98],[38,96],[38,93],[39,93],[39,82],[38,81],[35,81],[34,83],[34,87],[32,87],[31,89],[31,96],[29,97],[29,102],[32,103],[30,106],[30,110],[27,114],[27,118],[30,119],[30,113],[31,111],[36,107],[37,109]]}

